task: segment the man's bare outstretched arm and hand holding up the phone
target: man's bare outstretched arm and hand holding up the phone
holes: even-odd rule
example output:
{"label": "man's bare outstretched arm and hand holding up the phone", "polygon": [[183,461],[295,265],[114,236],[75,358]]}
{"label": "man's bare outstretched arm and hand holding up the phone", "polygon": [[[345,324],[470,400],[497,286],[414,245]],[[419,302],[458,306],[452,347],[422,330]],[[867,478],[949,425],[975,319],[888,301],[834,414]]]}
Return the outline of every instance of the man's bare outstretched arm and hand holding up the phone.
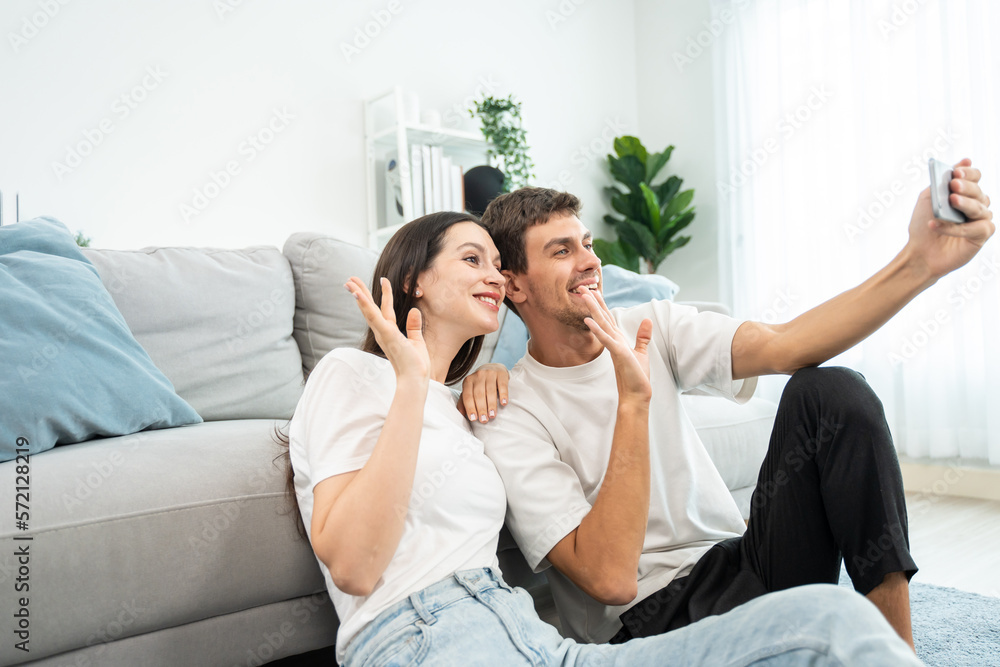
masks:
{"label": "man's bare outstretched arm and hand holding up the phone", "polygon": [[785,324],[744,322],[733,337],[733,379],[794,373],[850,349],[943,275],[964,266],[993,235],[990,198],[969,159],[955,165],[949,203],[969,222],[934,218],[930,190],[917,198],[909,240],[884,269]]}

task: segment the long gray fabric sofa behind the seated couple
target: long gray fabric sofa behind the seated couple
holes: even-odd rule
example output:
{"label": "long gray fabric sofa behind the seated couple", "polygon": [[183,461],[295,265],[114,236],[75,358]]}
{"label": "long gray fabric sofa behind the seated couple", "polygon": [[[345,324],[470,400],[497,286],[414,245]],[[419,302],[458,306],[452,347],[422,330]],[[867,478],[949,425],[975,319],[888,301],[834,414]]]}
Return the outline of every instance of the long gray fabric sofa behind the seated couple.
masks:
{"label": "long gray fabric sofa behind the seated couple", "polygon": [[[374,253],[315,233],[276,248],[86,251],[136,339],[205,419],[32,456],[30,653],[0,664],[259,665],[334,643],[337,619],[297,533],[276,426],[305,376],[364,323],[342,285]],[[496,334],[487,340],[489,359]],[[100,369],[95,369],[100,372]],[[775,406],[684,401],[746,514]],[[14,478],[14,462],[0,479]],[[14,505],[13,485],[0,499]],[[0,524],[0,608],[14,607]],[[504,536],[501,567],[547,620],[544,577]]]}

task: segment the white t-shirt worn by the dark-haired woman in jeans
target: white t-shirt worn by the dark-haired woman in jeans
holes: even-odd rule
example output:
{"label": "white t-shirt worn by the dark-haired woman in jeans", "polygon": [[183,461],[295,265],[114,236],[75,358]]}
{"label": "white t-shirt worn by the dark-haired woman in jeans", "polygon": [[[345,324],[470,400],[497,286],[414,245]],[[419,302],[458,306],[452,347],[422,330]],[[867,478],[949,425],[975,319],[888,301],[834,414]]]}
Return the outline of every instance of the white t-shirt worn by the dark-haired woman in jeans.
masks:
{"label": "white t-shirt worn by the dark-haired woman in jeans", "polygon": [[[313,488],[365,465],[395,391],[389,362],[360,350],[330,352],[309,376],[289,427],[295,495],[307,530]],[[455,403],[450,389],[430,383],[403,536],[371,595],[341,592],[317,558],[340,617],[338,662],[361,628],[411,593],[459,570],[493,567],[499,572],[503,482]]]}

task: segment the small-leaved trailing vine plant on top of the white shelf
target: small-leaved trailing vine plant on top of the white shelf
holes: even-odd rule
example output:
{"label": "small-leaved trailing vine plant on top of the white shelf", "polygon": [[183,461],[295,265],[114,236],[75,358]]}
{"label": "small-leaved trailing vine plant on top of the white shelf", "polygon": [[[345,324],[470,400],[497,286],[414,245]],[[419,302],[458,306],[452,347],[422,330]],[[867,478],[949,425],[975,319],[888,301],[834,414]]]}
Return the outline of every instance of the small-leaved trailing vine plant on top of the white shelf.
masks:
{"label": "small-leaved trailing vine plant on top of the white shelf", "polygon": [[535,176],[534,162],[528,157],[527,133],[521,126],[521,103],[514,96],[486,96],[474,102],[469,115],[477,115],[483,123],[483,136],[489,143],[487,155],[491,165],[504,174],[503,191],[510,192],[528,185]]}

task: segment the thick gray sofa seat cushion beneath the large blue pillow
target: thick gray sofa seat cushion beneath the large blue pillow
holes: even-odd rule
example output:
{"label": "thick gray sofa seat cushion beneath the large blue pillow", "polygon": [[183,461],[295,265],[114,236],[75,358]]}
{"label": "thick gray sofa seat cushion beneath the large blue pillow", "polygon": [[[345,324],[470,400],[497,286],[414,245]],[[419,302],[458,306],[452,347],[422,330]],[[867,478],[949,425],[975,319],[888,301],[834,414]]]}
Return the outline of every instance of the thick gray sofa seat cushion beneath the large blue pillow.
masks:
{"label": "thick gray sofa seat cushion beneath the large blue pillow", "polygon": [[[31,529],[19,533],[33,538],[31,658],[325,590],[274,461],[281,423],[206,422],[33,456]],[[0,484],[4,507],[13,487]],[[0,543],[12,532],[0,524]],[[0,572],[16,572],[13,553]],[[0,642],[0,664],[23,659],[12,644]]]}

